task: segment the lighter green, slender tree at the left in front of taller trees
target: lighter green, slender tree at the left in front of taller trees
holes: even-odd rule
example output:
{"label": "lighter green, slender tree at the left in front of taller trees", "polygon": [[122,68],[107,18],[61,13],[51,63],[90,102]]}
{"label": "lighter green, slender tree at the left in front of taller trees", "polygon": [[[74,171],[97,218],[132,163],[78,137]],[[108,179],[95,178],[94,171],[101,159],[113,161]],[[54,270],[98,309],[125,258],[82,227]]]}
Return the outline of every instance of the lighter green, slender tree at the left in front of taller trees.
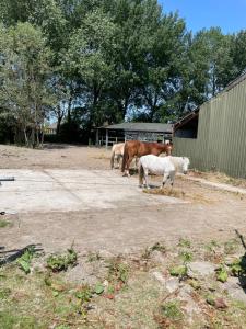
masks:
{"label": "lighter green, slender tree at the left in front of taller trees", "polygon": [[39,145],[44,120],[55,99],[48,91],[50,49],[30,23],[1,29],[0,101],[15,118],[27,146]]}

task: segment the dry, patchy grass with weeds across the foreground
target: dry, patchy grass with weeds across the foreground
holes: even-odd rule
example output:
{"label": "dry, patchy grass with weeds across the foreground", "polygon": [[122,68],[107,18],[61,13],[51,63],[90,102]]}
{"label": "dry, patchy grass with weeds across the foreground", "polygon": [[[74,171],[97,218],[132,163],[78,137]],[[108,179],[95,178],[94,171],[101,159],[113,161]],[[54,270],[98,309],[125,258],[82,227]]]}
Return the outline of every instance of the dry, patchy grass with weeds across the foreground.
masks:
{"label": "dry, patchy grass with weeds across the foreground", "polygon": [[[202,246],[204,247],[204,243]],[[223,251],[225,243],[210,241],[207,248],[208,246],[212,250]],[[156,242],[147,248],[150,252],[156,250],[162,252],[165,264],[156,262],[156,259],[152,260],[151,257],[143,259],[142,252],[101,259],[96,266],[106,266],[107,271],[103,271],[103,274],[98,274],[97,270],[95,273],[90,272],[90,275],[94,275],[97,280],[97,283],[93,284],[67,281],[65,271],[57,271],[56,262],[56,271],[47,269],[45,266],[47,259],[42,256],[38,258],[38,265],[42,263],[44,266],[42,271],[37,270],[33,261],[35,254],[28,250],[32,266],[28,275],[22,271],[17,262],[0,268],[0,327],[4,329],[244,328],[246,305],[235,302],[225,294],[223,285],[225,271],[227,276],[245,274],[244,257],[231,264],[221,262],[214,275],[198,281],[187,277],[187,266],[192,258],[204,261],[201,242],[180,239],[178,246],[167,247],[168,249]],[[230,256],[231,252],[230,248]],[[70,253],[66,251],[56,256],[68,259]],[[83,256],[83,262],[89,256]],[[92,259],[97,260],[96,254]],[[80,259],[75,262],[80,262]],[[151,265],[147,269],[145,263]],[[93,264],[90,264],[89,271],[91,265]],[[70,271],[70,264],[67,271]],[[172,275],[186,280],[179,283],[175,293],[169,293],[163,283],[156,280],[153,272],[161,273],[164,280],[169,280]],[[190,292],[186,290],[189,296],[186,295],[185,300],[180,299],[179,295],[183,286],[189,286],[191,290]],[[194,314],[187,314],[187,298],[195,302],[200,309],[198,318]],[[229,307],[218,309],[218,298],[223,298]]]}

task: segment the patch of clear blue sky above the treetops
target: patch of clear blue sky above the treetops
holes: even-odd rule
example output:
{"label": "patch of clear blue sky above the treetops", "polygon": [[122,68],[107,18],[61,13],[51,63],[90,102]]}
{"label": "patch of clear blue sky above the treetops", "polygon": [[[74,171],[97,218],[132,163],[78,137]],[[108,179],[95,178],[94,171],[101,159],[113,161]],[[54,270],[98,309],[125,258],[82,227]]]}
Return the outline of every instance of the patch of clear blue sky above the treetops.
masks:
{"label": "patch of clear blue sky above the treetops", "polygon": [[178,11],[194,32],[220,26],[223,33],[246,30],[246,0],[159,0],[164,12]]}

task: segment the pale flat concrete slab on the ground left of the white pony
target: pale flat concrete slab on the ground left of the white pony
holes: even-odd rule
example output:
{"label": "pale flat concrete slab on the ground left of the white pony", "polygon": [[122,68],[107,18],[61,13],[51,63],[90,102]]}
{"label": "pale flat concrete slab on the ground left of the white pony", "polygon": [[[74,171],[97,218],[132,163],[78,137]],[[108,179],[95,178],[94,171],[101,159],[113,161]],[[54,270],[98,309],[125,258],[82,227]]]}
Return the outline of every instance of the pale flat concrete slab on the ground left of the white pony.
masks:
{"label": "pale flat concrete slab on the ground left of the white pony", "polygon": [[0,170],[14,182],[0,186],[0,209],[4,212],[70,212],[120,206],[184,203],[167,196],[148,195],[136,178],[109,170]]}

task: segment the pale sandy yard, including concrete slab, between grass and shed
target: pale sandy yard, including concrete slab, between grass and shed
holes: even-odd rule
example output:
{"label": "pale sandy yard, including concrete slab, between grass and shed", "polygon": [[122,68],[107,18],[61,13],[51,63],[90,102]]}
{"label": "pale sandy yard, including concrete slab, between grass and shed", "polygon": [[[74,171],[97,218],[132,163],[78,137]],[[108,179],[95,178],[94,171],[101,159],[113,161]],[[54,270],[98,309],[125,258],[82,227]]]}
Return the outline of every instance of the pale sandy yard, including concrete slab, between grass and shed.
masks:
{"label": "pale sandy yard, including concrete slab, between grass and shed", "polygon": [[[109,150],[98,148],[47,145],[32,150],[1,145],[0,175],[22,178],[25,189],[17,180],[0,186],[0,206],[7,209],[4,217],[12,224],[0,230],[0,245],[8,250],[40,243],[50,252],[73,243],[82,253],[97,250],[125,253],[156,241],[172,245],[181,237],[198,241],[225,240],[234,237],[235,229],[246,234],[245,196],[183,178],[176,179],[175,189],[185,197],[172,202],[173,198],[166,196],[148,195],[138,189],[137,175],[128,179],[122,178],[119,170],[112,171],[109,157]],[[52,177],[48,181],[50,172]],[[40,191],[34,189],[40,185],[27,180],[38,174],[39,179],[45,174],[46,188]],[[66,178],[72,178],[72,182]],[[85,178],[87,186],[86,183],[82,188],[74,186]],[[153,184],[160,182],[161,178],[152,178]],[[47,194],[51,185],[54,190],[62,186],[67,193],[60,203],[59,196]],[[67,206],[71,195],[79,198]],[[90,200],[90,207],[79,206],[85,198]]]}

